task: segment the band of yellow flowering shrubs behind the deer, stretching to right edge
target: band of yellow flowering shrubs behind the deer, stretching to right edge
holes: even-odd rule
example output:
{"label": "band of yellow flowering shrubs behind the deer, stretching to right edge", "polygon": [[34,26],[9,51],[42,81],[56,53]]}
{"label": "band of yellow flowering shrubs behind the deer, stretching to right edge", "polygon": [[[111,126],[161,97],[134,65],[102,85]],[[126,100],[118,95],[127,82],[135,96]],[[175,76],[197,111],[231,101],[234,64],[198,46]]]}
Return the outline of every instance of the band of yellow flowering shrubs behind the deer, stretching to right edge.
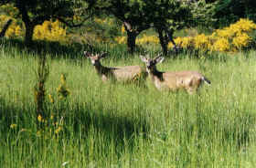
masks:
{"label": "band of yellow flowering shrubs behind the deer, stretching to right edge", "polygon": [[[122,32],[124,31],[122,27]],[[211,35],[196,35],[195,37],[176,37],[174,40],[176,46],[185,49],[194,48],[202,51],[220,51],[235,52],[243,48],[250,47],[252,38],[249,34],[256,31],[256,24],[251,20],[241,18],[235,24],[228,27],[215,30]],[[126,43],[127,37],[115,37],[119,44]],[[155,36],[143,36],[136,39],[136,44],[158,44],[159,39]],[[172,43],[168,44],[169,48],[173,47]]]}

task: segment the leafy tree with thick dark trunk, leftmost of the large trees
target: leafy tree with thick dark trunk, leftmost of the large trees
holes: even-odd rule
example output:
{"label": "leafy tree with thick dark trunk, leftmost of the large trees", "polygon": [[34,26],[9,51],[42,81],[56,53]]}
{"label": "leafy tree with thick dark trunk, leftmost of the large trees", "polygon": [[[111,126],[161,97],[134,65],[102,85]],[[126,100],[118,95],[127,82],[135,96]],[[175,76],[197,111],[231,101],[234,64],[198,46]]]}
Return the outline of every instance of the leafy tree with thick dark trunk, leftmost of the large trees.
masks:
{"label": "leafy tree with thick dark trunk, leftmost of the large trees", "polygon": [[18,9],[18,16],[26,27],[26,43],[32,42],[35,26],[45,20],[59,19],[67,26],[80,26],[74,23],[73,16],[82,16],[87,10],[80,9],[90,7],[79,0],[3,0],[0,5],[5,4],[12,4]]}

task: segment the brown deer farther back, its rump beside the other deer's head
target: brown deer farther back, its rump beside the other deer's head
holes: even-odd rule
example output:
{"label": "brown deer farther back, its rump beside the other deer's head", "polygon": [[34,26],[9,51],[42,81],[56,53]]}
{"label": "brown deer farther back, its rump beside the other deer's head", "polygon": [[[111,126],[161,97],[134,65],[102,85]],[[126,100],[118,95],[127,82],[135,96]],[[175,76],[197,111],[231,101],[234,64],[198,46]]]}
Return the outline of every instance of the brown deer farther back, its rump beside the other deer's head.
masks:
{"label": "brown deer farther back, its rump beside the other deer's head", "polygon": [[125,67],[103,67],[101,65],[101,58],[105,58],[107,53],[92,55],[90,52],[84,51],[84,56],[91,59],[91,63],[96,69],[98,75],[103,81],[141,81],[146,79],[147,73],[144,68],[140,66],[125,66]]}

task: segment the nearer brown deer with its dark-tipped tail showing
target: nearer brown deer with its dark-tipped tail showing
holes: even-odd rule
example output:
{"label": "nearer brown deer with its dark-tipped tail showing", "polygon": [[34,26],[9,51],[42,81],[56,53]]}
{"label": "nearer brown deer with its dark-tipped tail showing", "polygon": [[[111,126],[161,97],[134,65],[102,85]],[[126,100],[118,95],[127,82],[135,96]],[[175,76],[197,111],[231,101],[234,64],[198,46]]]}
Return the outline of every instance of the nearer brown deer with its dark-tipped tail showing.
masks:
{"label": "nearer brown deer with its dark-tipped tail showing", "polygon": [[197,91],[203,81],[210,84],[210,81],[197,71],[158,71],[155,65],[163,62],[164,57],[158,56],[151,59],[140,56],[140,58],[146,64],[146,70],[157,89],[186,89],[189,94],[192,94]]}

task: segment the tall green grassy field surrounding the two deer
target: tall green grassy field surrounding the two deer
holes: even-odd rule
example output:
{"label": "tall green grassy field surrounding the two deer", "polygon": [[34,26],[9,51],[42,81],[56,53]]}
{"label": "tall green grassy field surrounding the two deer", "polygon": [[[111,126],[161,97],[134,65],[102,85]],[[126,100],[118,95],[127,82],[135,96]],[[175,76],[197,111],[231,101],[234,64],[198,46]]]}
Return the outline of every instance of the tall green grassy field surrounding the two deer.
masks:
{"label": "tall green grassy field surrounding the two deer", "polygon": [[[196,95],[102,83],[81,52],[47,54],[45,113],[37,127],[37,52],[1,42],[0,167],[254,167],[256,52],[165,58],[160,70],[198,70]],[[102,47],[107,50],[108,47]],[[106,66],[142,65],[109,50]],[[62,53],[62,54],[61,54]],[[154,55],[152,55],[154,57]],[[216,58],[214,58],[216,57]],[[75,59],[76,58],[76,59]],[[60,75],[70,95],[60,100]],[[48,99],[48,94],[54,103]]]}

